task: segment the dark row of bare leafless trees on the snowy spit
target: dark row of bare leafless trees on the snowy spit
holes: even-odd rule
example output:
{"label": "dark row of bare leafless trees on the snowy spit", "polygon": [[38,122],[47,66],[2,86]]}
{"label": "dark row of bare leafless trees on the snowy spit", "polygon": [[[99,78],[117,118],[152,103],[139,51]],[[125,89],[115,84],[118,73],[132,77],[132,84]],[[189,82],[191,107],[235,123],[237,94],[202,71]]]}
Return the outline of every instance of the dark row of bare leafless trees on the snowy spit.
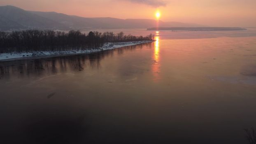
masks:
{"label": "dark row of bare leafless trees on the snowy spit", "polygon": [[81,33],[70,30],[68,33],[54,30],[23,30],[0,32],[0,53],[29,51],[68,51],[100,49],[107,42],[135,42],[153,40],[154,35],[146,37],[124,35],[123,32]]}

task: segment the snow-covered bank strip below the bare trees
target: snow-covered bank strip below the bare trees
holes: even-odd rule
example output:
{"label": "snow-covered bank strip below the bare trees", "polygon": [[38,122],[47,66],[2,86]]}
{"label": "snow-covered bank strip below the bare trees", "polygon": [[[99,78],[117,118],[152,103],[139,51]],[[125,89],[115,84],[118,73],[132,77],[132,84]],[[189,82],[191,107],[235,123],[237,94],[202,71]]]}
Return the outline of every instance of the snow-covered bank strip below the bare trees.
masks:
{"label": "snow-covered bank strip below the bare trees", "polygon": [[153,42],[152,40],[138,41],[138,42],[119,42],[119,43],[106,43],[100,49],[92,50],[73,50],[73,51],[33,51],[23,53],[0,53],[0,61],[17,60],[24,58],[44,58],[44,57],[57,57],[57,56],[68,56],[76,54],[95,53],[102,50],[115,49],[124,46],[133,46],[137,44],[144,44]]}

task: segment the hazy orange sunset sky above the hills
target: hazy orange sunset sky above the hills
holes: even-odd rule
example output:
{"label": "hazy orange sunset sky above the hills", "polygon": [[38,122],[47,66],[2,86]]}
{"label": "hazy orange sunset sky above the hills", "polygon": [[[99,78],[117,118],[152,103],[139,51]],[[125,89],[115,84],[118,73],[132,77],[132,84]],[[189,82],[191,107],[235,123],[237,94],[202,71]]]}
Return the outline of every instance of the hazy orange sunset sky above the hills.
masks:
{"label": "hazy orange sunset sky above the hills", "polygon": [[256,0],[0,0],[25,10],[83,17],[156,19],[207,26],[256,27]]}

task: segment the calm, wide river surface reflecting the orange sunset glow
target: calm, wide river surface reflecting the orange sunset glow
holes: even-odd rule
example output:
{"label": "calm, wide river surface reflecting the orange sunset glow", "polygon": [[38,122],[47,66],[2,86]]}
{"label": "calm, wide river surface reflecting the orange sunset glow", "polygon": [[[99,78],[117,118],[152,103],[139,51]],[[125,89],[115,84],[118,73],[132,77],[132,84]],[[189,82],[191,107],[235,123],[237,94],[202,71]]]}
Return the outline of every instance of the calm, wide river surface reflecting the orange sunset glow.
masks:
{"label": "calm, wide river surface reflecting the orange sunset glow", "polygon": [[123,31],[154,33],[156,41],[87,55],[0,62],[1,139],[246,143],[243,129],[256,126],[255,29]]}

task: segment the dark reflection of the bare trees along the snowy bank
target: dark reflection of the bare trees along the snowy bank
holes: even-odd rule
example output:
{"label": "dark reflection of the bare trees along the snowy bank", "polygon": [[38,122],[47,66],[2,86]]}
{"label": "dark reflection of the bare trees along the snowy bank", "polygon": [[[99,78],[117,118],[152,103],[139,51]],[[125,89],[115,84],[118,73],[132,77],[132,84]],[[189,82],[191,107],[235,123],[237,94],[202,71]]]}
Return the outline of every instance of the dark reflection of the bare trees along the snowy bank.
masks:
{"label": "dark reflection of the bare trees along the snowy bank", "polygon": [[31,77],[64,73],[67,71],[83,71],[87,65],[92,69],[99,69],[101,60],[106,56],[112,57],[115,53],[120,55],[125,51],[133,51],[138,48],[142,49],[143,46],[149,45],[151,45],[151,43],[126,46],[122,49],[112,49],[85,55],[3,62],[0,63],[0,78],[9,79],[9,77],[12,76]]}

